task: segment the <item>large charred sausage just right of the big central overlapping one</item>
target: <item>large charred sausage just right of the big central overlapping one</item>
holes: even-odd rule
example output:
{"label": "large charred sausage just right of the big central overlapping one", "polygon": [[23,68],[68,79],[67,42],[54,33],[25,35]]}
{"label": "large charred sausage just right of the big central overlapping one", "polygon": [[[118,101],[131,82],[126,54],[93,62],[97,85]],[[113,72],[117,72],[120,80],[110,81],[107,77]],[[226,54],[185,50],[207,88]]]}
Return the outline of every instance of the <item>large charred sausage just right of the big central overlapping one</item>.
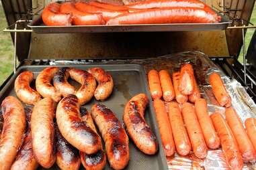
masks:
{"label": "large charred sausage just right of the big central overlapping one", "polygon": [[113,169],[124,169],[129,161],[129,139],[121,122],[103,104],[94,104],[91,114],[105,142],[110,166]]}

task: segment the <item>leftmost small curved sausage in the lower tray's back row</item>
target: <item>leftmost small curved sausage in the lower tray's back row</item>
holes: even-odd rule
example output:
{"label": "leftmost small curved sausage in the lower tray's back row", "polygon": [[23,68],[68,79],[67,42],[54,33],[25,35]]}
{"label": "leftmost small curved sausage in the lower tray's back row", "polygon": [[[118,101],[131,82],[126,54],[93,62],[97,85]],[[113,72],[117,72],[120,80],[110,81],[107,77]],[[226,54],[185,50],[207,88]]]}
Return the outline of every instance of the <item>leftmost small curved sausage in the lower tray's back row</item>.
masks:
{"label": "leftmost small curved sausage in the lower tray's back row", "polygon": [[34,80],[34,74],[30,71],[25,71],[17,76],[14,83],[14,90],[17,97],[26,104],[34,105],[41,100],[41,96],[36,90],[30,87],[30,83]]}

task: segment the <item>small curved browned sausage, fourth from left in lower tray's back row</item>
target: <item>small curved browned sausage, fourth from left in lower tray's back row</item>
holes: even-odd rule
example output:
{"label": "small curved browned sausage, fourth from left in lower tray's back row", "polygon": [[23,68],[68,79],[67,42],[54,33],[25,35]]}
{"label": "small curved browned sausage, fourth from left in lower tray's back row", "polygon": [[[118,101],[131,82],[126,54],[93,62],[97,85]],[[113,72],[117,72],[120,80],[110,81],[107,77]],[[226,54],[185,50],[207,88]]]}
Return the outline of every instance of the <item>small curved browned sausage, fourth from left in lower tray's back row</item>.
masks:
{"label": "small curved browned sausage, fourth from left in lower tray's back row", "polygon": [[93,93],[96,89],[96,80],[87,71],[71,68],[69,74],[72,79],[76,80],[81,84],[81,87],[75,95],[79,100],[79,104],[83,105],[93,97]]}

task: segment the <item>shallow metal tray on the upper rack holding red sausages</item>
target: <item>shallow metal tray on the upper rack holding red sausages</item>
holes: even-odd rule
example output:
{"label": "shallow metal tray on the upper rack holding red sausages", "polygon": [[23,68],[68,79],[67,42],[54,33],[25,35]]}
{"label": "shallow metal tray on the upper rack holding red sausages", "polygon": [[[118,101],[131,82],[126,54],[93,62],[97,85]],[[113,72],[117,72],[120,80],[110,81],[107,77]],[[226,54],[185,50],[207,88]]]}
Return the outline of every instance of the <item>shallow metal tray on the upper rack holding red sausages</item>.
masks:
{"label": "shallow metal tray on the upper rack holding red sausages", "polygon": [[[220,13],[218,13],[220,15]],[[28,23],[35,33],[103,33],[103,32],[138,32],[138,31],[210,31],[224,30],[231,21],[226,15],[220,15],[219,23],[164,23],[164,24],[136,24],[136,25],[70,25],[46,26],[41,15],[34,17]]]}

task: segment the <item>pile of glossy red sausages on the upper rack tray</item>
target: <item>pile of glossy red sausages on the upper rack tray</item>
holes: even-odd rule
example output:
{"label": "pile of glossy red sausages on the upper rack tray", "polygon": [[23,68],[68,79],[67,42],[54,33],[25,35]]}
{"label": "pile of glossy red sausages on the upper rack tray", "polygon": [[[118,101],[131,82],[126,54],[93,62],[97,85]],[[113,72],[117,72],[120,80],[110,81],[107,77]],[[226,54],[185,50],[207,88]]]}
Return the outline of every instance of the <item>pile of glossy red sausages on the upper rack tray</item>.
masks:
{"label": "pile of glossy red sausages on the upper rack tray", "polygon": [[128,5],[97,1],[50,3],[42,12],[48,26],[216,23],[220,19],[199,0],[149,0]]}

